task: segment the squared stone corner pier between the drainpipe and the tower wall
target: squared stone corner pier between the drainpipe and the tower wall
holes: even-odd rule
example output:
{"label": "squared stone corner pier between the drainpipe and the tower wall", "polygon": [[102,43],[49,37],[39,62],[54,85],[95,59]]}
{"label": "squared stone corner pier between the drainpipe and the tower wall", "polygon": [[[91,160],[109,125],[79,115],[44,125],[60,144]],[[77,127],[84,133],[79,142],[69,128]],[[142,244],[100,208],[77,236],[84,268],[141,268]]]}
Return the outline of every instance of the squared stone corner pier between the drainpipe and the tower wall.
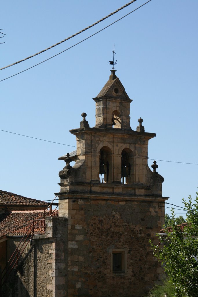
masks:
{"label": "squared stone corner pier between the drainpipe and the tower wall", "polygon": [[[45,280],[45,274],[42,273],[45,263],[41,263],[37,256],[37,267],[39,269],[40,283],[37,284],[37,294],[42,295],[43,290],[50,292],[52,297],[67,296],[67,219],[65,217],[46,217],[45,240],[50,245],[50,258],[47,263],[50,269],[45,269],[50,277],[50,281]],[[42,241],[41,241],[42,242]],[[42,254],[40,254],[42,257]],[[40,267],[39,267],[40,266]],[[38,277],[37,277],[38,278]],[[43,281],[45,285],[43,286]]]}

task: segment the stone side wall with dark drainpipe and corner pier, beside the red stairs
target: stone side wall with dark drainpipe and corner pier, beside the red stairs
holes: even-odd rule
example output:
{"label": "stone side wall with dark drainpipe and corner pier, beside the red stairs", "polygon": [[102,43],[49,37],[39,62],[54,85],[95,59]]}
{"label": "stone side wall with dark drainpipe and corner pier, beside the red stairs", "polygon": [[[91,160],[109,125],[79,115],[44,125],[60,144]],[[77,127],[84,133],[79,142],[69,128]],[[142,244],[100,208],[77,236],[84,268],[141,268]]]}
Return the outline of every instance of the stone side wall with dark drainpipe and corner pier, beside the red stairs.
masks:
{"label": "stone side wall with dark drainpipe and corner pier, beside the red stairs", "polygon": [[[20,240],[21,237],[10,237],[7,240],[7,259]],[[18,268],[12,270],[9,275],[2,297],[65,297],[67,219],[46,217],[45,235],[34,236],[33,244],[34,246],[28,243],[19,260]]]}

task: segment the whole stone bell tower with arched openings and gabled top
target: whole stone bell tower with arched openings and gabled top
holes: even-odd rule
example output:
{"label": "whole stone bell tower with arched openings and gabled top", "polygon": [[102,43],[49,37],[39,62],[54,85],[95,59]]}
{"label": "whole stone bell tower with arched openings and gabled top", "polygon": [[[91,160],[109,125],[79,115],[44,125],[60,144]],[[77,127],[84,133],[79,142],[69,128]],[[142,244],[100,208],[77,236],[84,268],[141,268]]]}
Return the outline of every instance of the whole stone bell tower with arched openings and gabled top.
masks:
{"label": "whole stone bell tower with arched openings and gabled top", "polygon": [[[149,239],[164,223],[162,182],[156,162],[148,167],[148,140],[142,119],[130,127],[132,100],[111,70],[94,98],[96,125],[86,113],[76,136],[77,150],[59,158],[59,216],[68,218],[67,295],[144,296],[160,280]],[[73,167],[70,162],[75,161]]]}

